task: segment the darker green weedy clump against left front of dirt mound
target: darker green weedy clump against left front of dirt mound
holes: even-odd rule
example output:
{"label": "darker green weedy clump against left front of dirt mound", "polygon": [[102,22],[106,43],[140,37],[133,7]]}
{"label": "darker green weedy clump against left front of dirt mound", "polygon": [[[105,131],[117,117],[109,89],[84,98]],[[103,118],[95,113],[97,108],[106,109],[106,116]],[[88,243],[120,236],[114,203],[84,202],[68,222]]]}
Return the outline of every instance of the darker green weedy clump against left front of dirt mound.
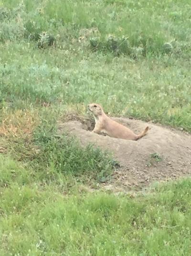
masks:
{"label": "darker green weedy clump against left front of dirt mound", "polygon": [[83,148],[76,138],[69,138],[67,134],[55,136],[53,131],[44,131],[43,125],[35,131],[34,143],[39,147],[34,160],[38,168],[51,167],[54,172],[81,180],[105,182],[117,163],[109,152],[91,144]]}

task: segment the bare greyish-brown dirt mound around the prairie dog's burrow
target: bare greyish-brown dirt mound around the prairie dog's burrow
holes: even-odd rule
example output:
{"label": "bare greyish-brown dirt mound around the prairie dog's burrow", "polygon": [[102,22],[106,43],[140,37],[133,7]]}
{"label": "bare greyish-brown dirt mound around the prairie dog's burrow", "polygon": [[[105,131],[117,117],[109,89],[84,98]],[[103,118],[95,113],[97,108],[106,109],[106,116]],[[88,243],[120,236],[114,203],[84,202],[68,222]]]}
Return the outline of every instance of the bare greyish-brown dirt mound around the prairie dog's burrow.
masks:
{"label": "bare greyish-brown dirt mound around the prairie dog's burrow", "polygon": [[[149,124],[148,134],[140,140],[121,140],[91,133],[92,120],[74,118],[59,124],[59,132],[69,131],[82,145],[93,142],[114,153],[121,167],[115,171],[109,189],[140,189],[155,181],[188,176],[191,174],[191,136]],[[148,123],[125,118],[113,118],[139,133]]]}

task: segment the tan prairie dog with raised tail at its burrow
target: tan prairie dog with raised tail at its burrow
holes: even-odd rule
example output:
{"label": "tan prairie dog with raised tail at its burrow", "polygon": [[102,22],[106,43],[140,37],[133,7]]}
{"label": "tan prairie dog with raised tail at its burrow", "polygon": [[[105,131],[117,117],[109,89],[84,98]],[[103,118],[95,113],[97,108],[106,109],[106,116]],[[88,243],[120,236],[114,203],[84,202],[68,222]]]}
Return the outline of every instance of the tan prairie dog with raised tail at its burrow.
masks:
{"label": "tan prairie dog with raised tail at its burrow", "polygon": [[108,116],[106,116],[103,108],[100,105],[93,103],[88,105],[88,108],[93,113],[96,122],[93,132],[103,132],[110,137],[118,139],[138,140],[145,136],[149,130],[149,127],[146,127],[144,131],[137,135],[126,126],[119,124],[116,121],[109,118]]}

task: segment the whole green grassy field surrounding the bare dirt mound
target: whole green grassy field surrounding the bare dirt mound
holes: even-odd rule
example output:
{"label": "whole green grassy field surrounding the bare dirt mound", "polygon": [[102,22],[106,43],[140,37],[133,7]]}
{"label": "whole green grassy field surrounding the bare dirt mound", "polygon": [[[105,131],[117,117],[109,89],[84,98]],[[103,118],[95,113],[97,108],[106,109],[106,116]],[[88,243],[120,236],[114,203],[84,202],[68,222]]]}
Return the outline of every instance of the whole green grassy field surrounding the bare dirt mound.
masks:
{"label": "whole green grassy field surrounding the bare dirt mound", "polygon": [[191,132],[189,0],[0,0],[0,255],[191,252],[191,179],[91,193],[116,162],[56,121],[103,105]]}

